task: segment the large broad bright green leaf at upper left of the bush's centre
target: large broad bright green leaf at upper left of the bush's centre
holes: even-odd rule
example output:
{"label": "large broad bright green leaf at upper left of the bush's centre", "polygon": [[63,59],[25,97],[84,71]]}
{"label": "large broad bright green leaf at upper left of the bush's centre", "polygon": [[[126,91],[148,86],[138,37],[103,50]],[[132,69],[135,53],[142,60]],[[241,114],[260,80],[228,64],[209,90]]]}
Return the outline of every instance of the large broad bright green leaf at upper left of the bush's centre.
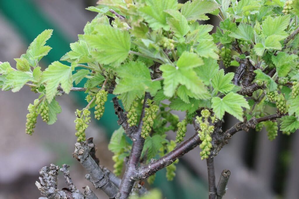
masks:
{"label": "large broad bright green leaf at upper left of the bush's centre", "polygon": [[131,47],[128,32],[118,30],[110,25],[98,26],[96,35],[84,35],[89,46],[96,49],[91,55],[101,64],[120,64],[129,55]]}

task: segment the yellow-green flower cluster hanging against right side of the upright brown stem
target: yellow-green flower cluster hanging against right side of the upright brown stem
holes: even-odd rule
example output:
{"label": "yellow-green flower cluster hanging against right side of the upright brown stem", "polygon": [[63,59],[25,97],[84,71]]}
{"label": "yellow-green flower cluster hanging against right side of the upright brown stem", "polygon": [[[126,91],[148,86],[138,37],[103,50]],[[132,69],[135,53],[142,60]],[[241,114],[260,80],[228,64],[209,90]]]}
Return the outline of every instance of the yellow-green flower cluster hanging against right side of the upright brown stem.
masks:
{"label": "yellow-green flower cluster hanging against right side of the upright brown stem", "polygon": [[142,119],[143,124],[141,127],[141,137],[147,138],[149,136],[149,133],[152,131],[152,126],[154,125],[154,119],[156,118],[156,112],[159,109],[157,105],[152,104],[152,100],[147,100],[148,108],[145,108],[145,115]]}

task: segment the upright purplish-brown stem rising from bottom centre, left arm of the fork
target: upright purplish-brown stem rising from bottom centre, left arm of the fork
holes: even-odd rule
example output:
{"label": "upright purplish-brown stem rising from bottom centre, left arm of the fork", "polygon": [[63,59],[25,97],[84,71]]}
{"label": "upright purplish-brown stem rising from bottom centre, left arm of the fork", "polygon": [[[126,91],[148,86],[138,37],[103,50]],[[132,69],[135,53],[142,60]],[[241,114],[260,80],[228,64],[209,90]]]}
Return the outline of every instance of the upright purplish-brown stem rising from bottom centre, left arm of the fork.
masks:
{"label": "upright purplish-brown stem rising from bottom centre, left arm of the fork", "polygon": [[137,131],[132,135],[133,145],[129,156],[129,161],[127,163],[126,171],[123,175],[123,179],[121,181],[120,188],[116,198],[120,198],[120,199],[128,198],[132,191],[132,187],[136,181],[136,179],[134,179],[133,176],[136,176],[137,173],[136,169],[138,168],[138,163],[140,161],[141,152],[144,146],[144,138],[141,137],[141,127],[143,124],[142,119],[144,118],[145,115],[145,108],[147,107],[146,102],[147,99],[149,98],[150,95],[148,92],[146,92],[144,95],[144,102],[142,106],[138,128]]}

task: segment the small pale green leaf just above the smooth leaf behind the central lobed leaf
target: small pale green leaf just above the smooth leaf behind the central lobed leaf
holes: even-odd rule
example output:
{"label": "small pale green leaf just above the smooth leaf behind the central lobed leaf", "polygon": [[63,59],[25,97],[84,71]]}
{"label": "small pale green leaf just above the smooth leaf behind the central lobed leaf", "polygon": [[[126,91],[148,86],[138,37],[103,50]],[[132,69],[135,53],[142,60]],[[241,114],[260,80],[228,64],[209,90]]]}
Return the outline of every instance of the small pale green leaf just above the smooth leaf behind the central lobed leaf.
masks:
{"label": "small pale green leaf just above the smooth leaf behind the central lobed leaf", "polygon": [[205,58],[211,57],[213,59],[218,59],[219,55],[217,52],[218,48],[213,41],[201,42],[196,47],[196,53]]}

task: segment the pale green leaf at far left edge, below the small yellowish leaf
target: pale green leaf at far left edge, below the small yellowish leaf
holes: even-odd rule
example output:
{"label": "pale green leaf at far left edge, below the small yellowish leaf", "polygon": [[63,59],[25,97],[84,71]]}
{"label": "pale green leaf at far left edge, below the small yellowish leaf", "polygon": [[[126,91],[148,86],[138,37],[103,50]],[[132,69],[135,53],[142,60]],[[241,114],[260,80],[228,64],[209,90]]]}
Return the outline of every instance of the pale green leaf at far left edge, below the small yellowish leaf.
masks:
{"label": "pale green leaf at far left edge, below the small yellowish leaf", "polygon": [[28,81],[34,81],[30,73],[28,74],[16,70],[7,75],[5,84],[12,88],[12,92],[18,92]]}

